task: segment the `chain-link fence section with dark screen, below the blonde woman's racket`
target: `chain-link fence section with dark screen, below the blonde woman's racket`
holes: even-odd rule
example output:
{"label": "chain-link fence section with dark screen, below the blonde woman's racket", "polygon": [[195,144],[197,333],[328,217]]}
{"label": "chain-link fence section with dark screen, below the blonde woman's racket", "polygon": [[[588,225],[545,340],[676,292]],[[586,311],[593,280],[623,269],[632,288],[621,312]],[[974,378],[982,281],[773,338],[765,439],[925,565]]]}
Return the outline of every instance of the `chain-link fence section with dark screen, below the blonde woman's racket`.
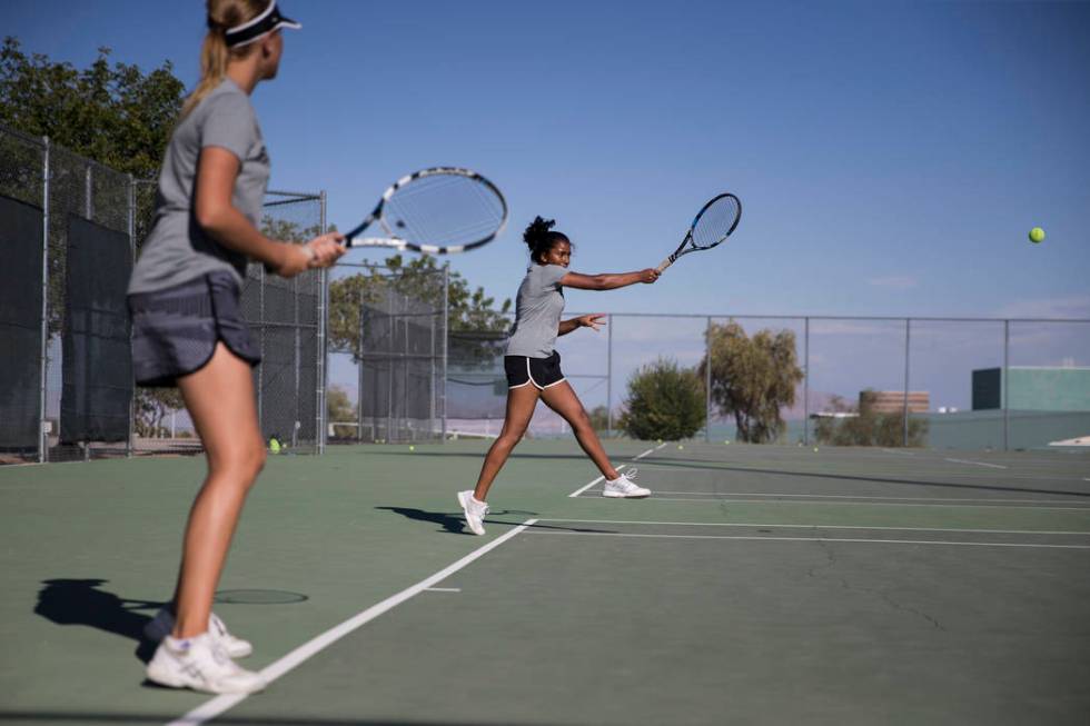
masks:
{"label": "chain-link fence section with dark screen, below the blonde woman's racket", "polygon": [[333,442],[445,438],[447,270],[341,265],[329,290]]}

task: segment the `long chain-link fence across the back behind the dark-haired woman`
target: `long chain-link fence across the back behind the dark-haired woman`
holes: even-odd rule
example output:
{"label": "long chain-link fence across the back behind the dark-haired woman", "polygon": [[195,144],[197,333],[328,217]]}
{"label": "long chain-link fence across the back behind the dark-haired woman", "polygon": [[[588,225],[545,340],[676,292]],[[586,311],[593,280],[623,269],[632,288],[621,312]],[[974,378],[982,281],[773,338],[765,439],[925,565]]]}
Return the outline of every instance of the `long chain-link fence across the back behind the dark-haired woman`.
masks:
{"label": "long chain-link fence across the back behind the dark-haired woman", "polygon": [[[705,424],[694,436],[708,441],[1029,449],[1090,436],[1090,320],[617,314],[606,322],[557,339],[568,381],[606,435],[625,435],[632,381],[665,361],[701,380]],[[488,340],[492,356],[456,355],[459,339]],[[450,340],[448,427],[494,436],[505,336],[452,330]],[[567,434],[538,407],[531,436]]]}

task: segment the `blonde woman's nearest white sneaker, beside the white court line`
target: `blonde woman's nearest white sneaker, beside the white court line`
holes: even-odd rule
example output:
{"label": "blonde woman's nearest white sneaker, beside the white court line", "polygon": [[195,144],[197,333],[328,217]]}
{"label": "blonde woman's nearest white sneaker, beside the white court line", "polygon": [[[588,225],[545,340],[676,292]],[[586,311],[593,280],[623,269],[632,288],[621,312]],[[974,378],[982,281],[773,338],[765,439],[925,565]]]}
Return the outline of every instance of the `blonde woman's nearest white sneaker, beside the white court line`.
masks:
{"label": "blonde woman's nearest white sneaker, beside the white court line", "polygon": [[265,688],[265,678],[240,668],[209,633],[165,637],[148,663],[147,675],[161,686],[208,694],[251,694]]}

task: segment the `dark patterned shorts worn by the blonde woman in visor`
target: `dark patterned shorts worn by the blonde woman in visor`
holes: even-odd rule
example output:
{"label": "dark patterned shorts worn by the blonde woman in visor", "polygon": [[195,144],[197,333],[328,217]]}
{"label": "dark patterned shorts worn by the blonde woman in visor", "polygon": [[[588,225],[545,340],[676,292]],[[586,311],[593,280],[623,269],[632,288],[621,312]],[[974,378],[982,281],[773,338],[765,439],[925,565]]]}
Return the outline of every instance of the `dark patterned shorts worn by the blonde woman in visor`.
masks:
{"label": "dark patterned shorts worn by the blonde woman in visor", "polygon": [[238,282],[230,272],[211,272],[166,290],[130,295],[136,382],[176,386],[180,376],[211,360],[219,340],[250,366],[261,362],[242,320],[239,298]]}

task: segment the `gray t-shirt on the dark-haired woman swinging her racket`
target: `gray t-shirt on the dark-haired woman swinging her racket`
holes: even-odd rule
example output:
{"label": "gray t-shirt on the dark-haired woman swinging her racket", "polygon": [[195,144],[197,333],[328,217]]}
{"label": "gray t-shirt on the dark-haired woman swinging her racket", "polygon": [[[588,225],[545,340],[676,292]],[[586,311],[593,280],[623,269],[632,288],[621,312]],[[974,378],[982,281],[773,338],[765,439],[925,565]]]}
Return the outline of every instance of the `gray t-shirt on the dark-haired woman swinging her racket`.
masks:
{"label": "gray t-shirt on the dark-haired woman swinging her racket", "polygon": [[548,358],[564,312],[561,278],[567,268],[532,262],[515,298],[515,327],[507,341],[508,356]]}

